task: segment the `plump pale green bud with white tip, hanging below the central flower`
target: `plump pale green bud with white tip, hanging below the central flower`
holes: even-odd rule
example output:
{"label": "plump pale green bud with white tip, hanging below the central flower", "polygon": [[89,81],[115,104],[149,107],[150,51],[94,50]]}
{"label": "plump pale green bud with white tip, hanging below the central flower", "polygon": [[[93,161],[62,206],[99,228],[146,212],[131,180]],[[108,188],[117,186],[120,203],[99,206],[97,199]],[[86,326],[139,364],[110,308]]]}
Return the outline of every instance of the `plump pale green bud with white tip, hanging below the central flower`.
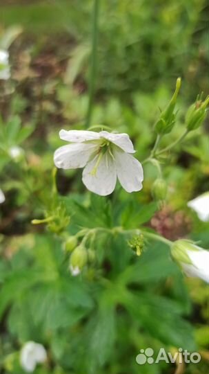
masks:
{"label": "plump pale green bud with white tip, hanging below the central flower", "polygon": [[70,256],[70,271],[72,276],[77,276],[81,269],[86,265],[88,260],[88,253],[83,245],[79,245],[74,249],[72,255]]}

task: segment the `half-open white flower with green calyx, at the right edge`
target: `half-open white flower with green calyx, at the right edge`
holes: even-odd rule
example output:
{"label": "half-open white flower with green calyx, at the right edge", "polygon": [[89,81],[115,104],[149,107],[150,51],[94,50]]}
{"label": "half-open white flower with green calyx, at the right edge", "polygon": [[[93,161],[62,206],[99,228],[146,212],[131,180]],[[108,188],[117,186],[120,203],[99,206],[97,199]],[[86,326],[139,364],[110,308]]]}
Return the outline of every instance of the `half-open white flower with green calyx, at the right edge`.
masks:
{"label": "half-open white flower with green calyx, at the right edge", "polygon": [[188,240],[177,240],[172,245],[171,254],[187,276],[209,283],[209,251]]}

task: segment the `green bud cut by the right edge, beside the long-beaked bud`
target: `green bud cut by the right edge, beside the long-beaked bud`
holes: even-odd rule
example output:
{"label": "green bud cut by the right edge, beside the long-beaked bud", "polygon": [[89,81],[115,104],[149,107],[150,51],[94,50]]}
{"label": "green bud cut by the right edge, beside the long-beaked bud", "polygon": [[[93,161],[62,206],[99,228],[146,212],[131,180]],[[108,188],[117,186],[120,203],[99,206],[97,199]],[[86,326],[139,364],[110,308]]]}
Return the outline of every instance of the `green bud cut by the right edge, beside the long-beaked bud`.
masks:
{"label": "green bud cut by the right edge, beside the long-beaked bud", "polygon": [[196,103],[189,107],[186,114],[186,127],[188,131],[196,130],[203,124],[206,118],[208,104],[209,96],[203,102],[197,98]]}

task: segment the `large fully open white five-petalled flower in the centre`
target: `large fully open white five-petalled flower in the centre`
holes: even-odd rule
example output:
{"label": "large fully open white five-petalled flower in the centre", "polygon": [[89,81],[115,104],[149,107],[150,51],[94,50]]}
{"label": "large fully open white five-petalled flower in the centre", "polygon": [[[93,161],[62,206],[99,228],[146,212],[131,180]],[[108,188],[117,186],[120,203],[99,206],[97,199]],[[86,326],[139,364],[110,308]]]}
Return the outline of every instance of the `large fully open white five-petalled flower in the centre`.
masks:
{"label": "large fully open white five-petalled flower in the centre", "polygon": [[135,150],[127,134],[107,131],[61,130],[60,139],[71,144],[54,152],[57,168],[84,168],[83,184],[98,195],[110,195],[117,178],[129,193],[142,188],[143,168],[132,156]]}

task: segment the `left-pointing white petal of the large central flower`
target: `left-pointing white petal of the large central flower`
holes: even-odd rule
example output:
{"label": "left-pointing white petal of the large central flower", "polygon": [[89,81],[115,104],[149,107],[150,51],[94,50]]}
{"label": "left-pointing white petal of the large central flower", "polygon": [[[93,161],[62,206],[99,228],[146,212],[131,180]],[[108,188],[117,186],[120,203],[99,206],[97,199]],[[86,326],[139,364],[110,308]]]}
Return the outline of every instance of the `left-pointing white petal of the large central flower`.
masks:
{"label": "left-pointing white petal of the large central flower", "polygon": [[97,145],[92,143],[63,145],[54,152],[54,164],[62,169],[83,168],[96,149]]}

